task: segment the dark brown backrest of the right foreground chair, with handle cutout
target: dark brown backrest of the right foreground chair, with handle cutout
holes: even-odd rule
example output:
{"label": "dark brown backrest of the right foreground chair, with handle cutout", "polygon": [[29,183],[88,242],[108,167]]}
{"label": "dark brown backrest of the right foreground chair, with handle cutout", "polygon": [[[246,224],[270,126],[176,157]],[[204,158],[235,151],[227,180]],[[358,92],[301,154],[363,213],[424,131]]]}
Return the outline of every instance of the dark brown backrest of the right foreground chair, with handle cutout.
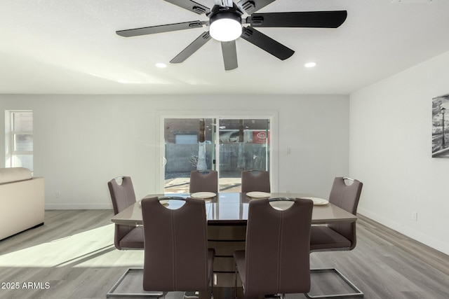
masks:
{"label": "dark brown backrest of the right foreground chair, with handle cutout", "polygon": [[310,291],[311,200],[283,211],[268,199],[252,200],[246,229],[245,295]]}

